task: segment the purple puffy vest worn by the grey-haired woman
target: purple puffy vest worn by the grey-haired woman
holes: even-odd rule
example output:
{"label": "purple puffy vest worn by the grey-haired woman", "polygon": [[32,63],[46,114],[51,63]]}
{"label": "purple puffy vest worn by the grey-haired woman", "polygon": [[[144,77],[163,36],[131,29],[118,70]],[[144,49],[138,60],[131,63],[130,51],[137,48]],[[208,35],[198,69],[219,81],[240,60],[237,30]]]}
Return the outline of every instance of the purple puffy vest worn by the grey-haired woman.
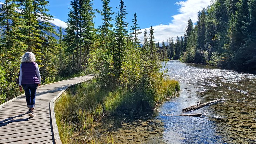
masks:
{"label": "purple puffy vest worn by the grey-haired woman", "polygon": [[23,62],[21,69],[23,74],[21,84],[39,84],[35,62]]}

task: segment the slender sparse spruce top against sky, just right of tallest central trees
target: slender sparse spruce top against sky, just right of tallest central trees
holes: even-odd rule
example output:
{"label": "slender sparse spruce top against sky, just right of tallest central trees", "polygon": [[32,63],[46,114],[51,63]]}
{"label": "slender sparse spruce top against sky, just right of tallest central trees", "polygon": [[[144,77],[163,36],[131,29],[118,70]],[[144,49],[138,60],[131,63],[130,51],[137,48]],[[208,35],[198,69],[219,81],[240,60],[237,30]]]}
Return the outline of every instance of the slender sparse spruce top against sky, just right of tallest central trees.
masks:
{"label": "slender sparse spruce top against sky, just right of tallest central trees", "polygon": [[140,32],[140,27],[138,27],[138,20],[137,20],[137,14],[134,14],[134,18],[133,18],[133,25],[131,26],[132,29],[132,34],[133,34],[133,42],[134,42],[134,47],[137,47],[137,44],[140,43],[140,39],[138,38],[138,34],[141,34]]}

